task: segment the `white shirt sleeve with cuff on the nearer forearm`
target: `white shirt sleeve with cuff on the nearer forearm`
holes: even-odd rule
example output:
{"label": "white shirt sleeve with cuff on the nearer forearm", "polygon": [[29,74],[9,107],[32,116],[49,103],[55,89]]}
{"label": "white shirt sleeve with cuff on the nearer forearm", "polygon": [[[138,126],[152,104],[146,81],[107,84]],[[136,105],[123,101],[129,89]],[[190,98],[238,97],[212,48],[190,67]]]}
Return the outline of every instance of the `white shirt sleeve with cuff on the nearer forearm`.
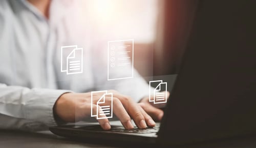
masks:
{"label": "white shirt sleeve with cuff on the nearer forearm", "polygon": [[[35,126],[38,124],[56,125],[53,106],[59,96],[68,92],[70,91],[45,88],[29,89],[0,83],[0,128],[23,129],[27,127],[27,123]],[[17,124],[19,120],[23,120],[23,122]]]}

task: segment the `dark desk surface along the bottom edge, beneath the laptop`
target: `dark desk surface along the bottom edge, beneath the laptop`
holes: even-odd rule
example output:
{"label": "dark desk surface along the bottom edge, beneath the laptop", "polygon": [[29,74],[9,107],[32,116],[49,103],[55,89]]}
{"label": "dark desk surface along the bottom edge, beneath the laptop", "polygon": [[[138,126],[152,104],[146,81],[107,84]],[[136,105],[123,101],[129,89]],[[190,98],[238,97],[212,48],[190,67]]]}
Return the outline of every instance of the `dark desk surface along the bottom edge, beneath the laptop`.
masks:
{"label": "dark desk surface along the bottom edge, beneath the laptop", "polygon": [[[125,144],[124,144],[125,145]],[[72,141],[59,137],[50,131],[28,133],[20,131],[0,130],[0,147],[115,147],[103,144],[93,144],[89,142]],[[120,147],[116,146],[116,147]],[[175,146],[176,147],[176,146]],[[186,145],[185,147],[256,147],[256,136],[247,138],[236,138],[220,140],[215,142],[200,143],[196,145]]]}

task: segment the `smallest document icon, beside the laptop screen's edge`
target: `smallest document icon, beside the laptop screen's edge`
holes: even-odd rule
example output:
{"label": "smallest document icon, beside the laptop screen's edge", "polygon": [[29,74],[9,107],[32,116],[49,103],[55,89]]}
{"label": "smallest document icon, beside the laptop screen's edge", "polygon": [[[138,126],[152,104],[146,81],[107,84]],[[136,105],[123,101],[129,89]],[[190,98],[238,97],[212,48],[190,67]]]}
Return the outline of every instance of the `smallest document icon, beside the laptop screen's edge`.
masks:
{"label": "smallest document icon, beside the laptop screen's edge", "polygon": [[[154,92],[152,92],[153,86],[156,86]],[[152,97],[153,94],[154,97]],[[154,104],[167,102],[167,82],[163,82],[162,80],[150,81],[149,101],[154,102]]]}

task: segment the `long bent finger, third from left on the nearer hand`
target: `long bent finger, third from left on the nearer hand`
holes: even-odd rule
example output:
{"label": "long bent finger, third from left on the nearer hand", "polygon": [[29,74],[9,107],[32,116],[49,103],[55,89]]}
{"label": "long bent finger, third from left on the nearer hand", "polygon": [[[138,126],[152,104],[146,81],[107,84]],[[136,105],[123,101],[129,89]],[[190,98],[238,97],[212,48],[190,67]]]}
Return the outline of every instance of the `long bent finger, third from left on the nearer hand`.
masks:
{"label": "long bent finger, third from left on the nearer hand", "polygon": [[118,98],[121,101],[127,113],[131,115],[132,119],[134,120],[138,128],[140,129],[146,128],[146,122],[145,122],[144,116],[141,113],[137,103],[135,103],[129,97],[126,97],[120,94],[114,94],[114,97]]}

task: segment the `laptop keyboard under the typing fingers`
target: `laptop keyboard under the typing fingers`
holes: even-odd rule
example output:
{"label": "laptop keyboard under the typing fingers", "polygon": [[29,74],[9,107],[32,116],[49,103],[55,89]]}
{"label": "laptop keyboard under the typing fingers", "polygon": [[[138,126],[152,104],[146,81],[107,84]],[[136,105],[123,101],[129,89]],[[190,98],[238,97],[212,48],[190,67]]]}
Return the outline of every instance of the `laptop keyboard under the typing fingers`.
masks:
{"label": "laptop keyboard under the typing fingers", "polygon": [[[144,134],[148,134],[148,133],[157,133],[159,131],[159,124],[156,124],[155,127],[151,128],[151,127],[147,127],[146,129],[139,129],[137,127],[134,127],[134,129],[132,130],[125,130],[124,127],[120,127],[120,126],[111,126],[111,130],[108,131],[113,131],[113,132],[126,132],[126,133],[144,133]],[[93,130],[93,131],[104,131],[100,125],[94,125],[94,126],[83,126],[83,127],[79,127],[83,130]]]}

